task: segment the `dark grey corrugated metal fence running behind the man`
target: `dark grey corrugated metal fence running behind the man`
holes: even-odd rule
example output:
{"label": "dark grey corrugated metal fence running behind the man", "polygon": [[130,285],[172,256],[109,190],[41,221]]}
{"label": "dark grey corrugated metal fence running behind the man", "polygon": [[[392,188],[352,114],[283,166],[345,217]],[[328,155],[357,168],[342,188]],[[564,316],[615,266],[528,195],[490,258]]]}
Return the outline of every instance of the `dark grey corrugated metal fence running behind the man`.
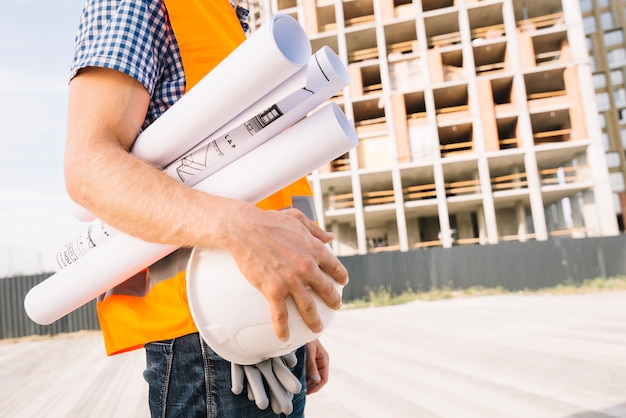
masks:
{"label": "dark grey corrugated metal fence running behind the man", "polygon": [[[620,235],[464,245],[340,259],[350,274],[350,283],[344,289],[344,300],[349,302],[381,288],[393,294],[474,286],[523,290],[626,276],[625,255],[626,235]],[[26,293],[49,276],[0,279],[0,339],[99,329],[94,302],[48,326],[37,325],[26,316]]]}

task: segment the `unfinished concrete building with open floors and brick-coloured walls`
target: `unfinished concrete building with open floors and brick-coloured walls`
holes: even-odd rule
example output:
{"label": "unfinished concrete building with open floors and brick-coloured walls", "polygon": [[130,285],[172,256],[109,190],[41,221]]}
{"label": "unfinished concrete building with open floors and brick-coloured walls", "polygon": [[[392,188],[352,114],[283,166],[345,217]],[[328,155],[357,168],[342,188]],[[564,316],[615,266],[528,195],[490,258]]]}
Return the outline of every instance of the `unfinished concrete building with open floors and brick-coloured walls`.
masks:
{"label": "unfinished concrete building with open floors and brick-coloured walls", "polygon": [[351,75],[359,145],[310,175],[337,254],[618,233],[578,0],[263,5]]}

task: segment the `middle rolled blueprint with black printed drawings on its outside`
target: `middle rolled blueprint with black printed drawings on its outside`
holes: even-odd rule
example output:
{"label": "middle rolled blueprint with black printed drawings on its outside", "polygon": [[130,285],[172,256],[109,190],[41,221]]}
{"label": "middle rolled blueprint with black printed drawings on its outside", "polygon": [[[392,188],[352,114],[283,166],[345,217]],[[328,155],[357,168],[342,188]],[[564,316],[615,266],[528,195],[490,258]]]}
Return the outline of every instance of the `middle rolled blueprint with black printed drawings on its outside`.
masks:
{"label": "middle rolled blueprint with black printed drawings on its outside", "polygon": [[[299,84],[295,84],[295,77]],[[305,117],[349,82],[347,69],[325,46],[311,56],[307,67],[259,99],[218,133],[207,136],[164,171],[188,186],[198,184]],[[257,113],[259,109],[262,110]],[[245,119],[251,112],[255,112],[254,116]],[[149,134],[151,129],[148,127],[145,133]],[[67,267],[116,232],[96,219],[86,227],[85,233],[58,251],[58,266]]]}

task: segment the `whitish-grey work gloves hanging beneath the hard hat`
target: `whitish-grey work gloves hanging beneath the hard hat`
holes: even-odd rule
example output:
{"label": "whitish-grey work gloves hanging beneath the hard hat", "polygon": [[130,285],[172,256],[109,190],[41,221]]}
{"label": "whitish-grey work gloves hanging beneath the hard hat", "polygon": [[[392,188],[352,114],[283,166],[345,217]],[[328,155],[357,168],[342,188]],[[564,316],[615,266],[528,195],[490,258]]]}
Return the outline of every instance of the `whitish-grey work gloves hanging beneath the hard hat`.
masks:
{"label": "whitish-grey work gloves hanging beneath the hard hat", "polygon": [[[289,415],[293,412],[294,395],[302,390],[302,384],[289,370],[297,363],[295,351],[249,366],[231,363],[231,391],[235,395],[242,393],[247,380],[248,399],[254,401],[259,409],[272,405],[275,414]],[[263,385],[264,379],[269,388],[269,399]]]}

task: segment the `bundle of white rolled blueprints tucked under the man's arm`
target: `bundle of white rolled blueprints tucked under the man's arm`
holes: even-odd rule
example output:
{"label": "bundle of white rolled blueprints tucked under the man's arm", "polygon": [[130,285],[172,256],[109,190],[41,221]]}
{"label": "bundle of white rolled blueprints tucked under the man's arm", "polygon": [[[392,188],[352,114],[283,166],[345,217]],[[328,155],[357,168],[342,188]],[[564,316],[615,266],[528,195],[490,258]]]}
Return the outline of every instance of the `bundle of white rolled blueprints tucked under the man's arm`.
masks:
{"label": "bundle of white rolled blueprints tucked under the man's arm", "polygon": [[[316,110],[347,84],[347,71],[329,49],[314,56],[310,51],[306,34],[293,18],[274,16],[142,133],[131,152],[167,172],[168,166],[180,163],[198,147],[223,139],[273,104],[282,103],[289,110],[255,132],[254,136],[261,135],[271,127],[251,149],[208,176],[196,173],[190,177],[195,177],[193,181],[181,181],[206,193],[256,203],[306,176],[357,145],[354,126],[337,104]],[[320,78],[324,71],[315,70],[318,64],[313,62],[322,62],[330,77]],[[246,74],[245,83],[229,81],[242,67],[253,64],[254,77]],[[228,86],[231,83],[237,86]],[[311,83],[313,94],[300,92]],[[229,97],[222,100],[220,92],[228,92]],[[274,125],[281,120],[283,125]],[[214,171],[214,165],[207,170]],[[33,287],[26,295],[25,310],[34,322],[50,324],[177,248],[116,231]]]}

